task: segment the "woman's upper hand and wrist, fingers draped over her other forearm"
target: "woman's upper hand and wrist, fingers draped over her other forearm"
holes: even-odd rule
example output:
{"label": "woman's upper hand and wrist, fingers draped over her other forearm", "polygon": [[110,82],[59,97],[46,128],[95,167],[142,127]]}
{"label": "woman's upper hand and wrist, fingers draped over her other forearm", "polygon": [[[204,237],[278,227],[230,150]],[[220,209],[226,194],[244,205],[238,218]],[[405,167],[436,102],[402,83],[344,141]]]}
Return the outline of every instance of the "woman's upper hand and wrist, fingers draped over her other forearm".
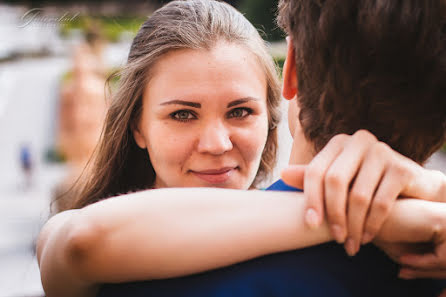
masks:
{"label": "woman's upper hand and wrist, fingers draped over her other forearm", "polygon": [[400,195],[444,201],[446,178],[392,150],[366,130],[340,134],[307,166],[290,166],[283,180],[303,188],[305,221],[318,226],[326,213],[333,237],[354,255],[373,240]]}

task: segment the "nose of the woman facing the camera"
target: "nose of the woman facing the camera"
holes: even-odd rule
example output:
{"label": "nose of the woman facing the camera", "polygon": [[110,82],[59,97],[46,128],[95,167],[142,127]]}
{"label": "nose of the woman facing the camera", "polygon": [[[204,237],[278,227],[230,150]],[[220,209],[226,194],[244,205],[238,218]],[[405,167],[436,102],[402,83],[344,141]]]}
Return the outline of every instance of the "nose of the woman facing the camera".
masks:
{"label": "nose of the woman facing the camera", "polygon": [[222,123],[207,124],[203,127],[198,139],[198,152],[221,155],[232,148],[230,131]]}

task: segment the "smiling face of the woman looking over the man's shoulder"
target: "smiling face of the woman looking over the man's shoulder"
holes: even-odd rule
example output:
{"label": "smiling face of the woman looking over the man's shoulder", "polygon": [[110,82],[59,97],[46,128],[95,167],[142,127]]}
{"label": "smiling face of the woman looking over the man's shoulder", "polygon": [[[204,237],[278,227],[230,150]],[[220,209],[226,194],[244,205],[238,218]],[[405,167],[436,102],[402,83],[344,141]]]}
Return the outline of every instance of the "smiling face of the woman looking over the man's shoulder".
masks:
{"label": "smiling face of the woman looking over the man's shoulder", "polygon": [[247,189],[268,136],[267,82],[241,46],[177,50],[151,70],[134,137],[154,187]]}

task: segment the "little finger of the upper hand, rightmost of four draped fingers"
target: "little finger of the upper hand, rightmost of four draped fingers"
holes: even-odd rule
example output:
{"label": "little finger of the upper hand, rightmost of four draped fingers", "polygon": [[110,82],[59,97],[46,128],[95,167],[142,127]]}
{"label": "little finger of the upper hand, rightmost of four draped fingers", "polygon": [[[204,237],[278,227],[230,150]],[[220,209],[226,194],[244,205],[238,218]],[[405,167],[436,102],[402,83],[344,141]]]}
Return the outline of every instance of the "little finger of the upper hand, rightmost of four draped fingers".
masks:
{"label": "little finger of the upper hand, rightmost of four draped fingers", "polygon": [[404,173],[400,170],[389,169],[384,172],[366,218],[364,234],[368,235],[365,239],[374,238],[381,229],[396,198],[404,187],[405,179],[403,175]]}

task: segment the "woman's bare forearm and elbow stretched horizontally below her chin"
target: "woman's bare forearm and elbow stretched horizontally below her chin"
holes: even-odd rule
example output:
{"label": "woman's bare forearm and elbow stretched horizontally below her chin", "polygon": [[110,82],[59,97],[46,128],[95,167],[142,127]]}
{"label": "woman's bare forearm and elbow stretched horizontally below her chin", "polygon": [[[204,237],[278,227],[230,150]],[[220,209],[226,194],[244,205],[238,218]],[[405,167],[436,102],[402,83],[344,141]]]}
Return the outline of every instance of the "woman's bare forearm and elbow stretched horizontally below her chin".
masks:
{"label": "woman's bare forearm and elbow stretched horizontally below her chin", "polygon": [[329,241],[289,192],[160,189],[56,215],[38,241],[48,297],[94,296],[97,284],[168,278]]}

